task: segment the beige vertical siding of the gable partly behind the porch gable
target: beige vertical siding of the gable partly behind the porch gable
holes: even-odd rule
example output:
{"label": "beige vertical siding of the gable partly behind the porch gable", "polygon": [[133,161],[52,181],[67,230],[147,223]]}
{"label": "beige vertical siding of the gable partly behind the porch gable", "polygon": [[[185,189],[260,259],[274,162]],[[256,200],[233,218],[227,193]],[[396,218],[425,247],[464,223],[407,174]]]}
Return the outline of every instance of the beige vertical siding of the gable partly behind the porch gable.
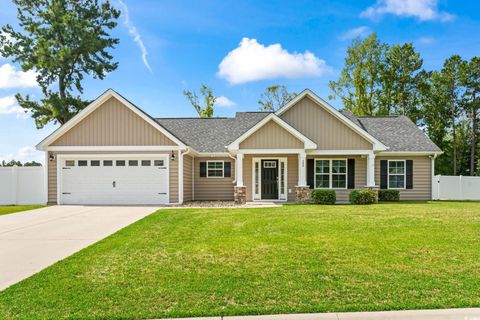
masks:
{"label": "beige vertical siding of the gable partly behind the porch gable", "polygon": [[372,144],[309,97],[280,116],[317,144],[319,150],[370,150]]}

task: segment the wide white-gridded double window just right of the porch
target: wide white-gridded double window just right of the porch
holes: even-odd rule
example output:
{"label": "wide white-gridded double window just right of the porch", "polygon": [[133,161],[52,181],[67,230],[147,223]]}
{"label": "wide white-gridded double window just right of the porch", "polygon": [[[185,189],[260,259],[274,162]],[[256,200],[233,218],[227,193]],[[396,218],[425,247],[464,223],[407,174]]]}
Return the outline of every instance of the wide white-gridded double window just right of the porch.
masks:
{"label": "wide white-gridded double window just right of the porch", "polygon": [[320,159],[315,160],[316,189],[346,189],[347,160]]}

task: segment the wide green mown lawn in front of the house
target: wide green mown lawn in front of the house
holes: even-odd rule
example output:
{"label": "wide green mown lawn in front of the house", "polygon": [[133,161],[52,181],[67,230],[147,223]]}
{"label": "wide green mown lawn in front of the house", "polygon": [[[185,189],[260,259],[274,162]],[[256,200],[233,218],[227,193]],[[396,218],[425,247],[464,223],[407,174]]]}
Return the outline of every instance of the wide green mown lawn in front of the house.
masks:
{"label": "wide green mown lawn in front of the house", "polygon": [[0,292],[0,318],[480,306],[480,203],[157,213]]}

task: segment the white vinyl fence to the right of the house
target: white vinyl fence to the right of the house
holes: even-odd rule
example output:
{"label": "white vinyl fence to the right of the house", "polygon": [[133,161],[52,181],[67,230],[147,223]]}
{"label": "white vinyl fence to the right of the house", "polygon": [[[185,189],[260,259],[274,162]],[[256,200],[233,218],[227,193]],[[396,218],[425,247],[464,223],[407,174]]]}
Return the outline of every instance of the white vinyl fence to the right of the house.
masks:
{"label": "white vinyl fence to the right of the house", "polygon": [[480,177],[434,176],[434,200],[480,200]]}

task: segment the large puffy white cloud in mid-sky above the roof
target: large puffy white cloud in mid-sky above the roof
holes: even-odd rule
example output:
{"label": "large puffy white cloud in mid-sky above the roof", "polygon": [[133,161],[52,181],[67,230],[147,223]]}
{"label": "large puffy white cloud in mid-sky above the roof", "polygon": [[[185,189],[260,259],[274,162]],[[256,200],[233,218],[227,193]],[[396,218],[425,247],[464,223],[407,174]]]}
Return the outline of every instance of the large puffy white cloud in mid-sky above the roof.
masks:
{"label": "large puffy white cloud in mid-sky above the roof", "polygon": [[329,71],[325,61],[313,53],[289,53],[282,46],[265,46],[256,39],[243,38],[218,66],[217,75],[231,84],[274,78],[320,76]]}

